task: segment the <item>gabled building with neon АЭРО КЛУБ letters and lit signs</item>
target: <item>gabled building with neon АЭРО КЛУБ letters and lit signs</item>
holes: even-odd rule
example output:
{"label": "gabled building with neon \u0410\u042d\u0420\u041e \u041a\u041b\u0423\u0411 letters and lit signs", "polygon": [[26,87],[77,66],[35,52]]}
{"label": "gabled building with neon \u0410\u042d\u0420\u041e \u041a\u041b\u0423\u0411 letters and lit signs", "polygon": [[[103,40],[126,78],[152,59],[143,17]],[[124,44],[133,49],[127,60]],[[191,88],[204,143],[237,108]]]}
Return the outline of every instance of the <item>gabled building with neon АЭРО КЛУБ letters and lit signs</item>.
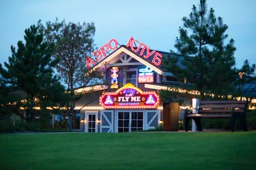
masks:
{"label": "gabled building with neon \u0410\u042d\u0420\u041e \u041a\u041b\u0423\u0411 letters and lit signs", "polygon": [[[111,39],[93,57],[87,57],[87,67],[100,71],[104,83],[75,90],[83,95],[76,103],[76,109],[81,109],[80,130],[131,132],[161,124],[159,90],[168,88],[170,83],[179,85],[173,81],[172,73],[161,69],[161,60],[167,55],[131,37],[127,45]],[[188,105],[191,106],[191,99]]]}

